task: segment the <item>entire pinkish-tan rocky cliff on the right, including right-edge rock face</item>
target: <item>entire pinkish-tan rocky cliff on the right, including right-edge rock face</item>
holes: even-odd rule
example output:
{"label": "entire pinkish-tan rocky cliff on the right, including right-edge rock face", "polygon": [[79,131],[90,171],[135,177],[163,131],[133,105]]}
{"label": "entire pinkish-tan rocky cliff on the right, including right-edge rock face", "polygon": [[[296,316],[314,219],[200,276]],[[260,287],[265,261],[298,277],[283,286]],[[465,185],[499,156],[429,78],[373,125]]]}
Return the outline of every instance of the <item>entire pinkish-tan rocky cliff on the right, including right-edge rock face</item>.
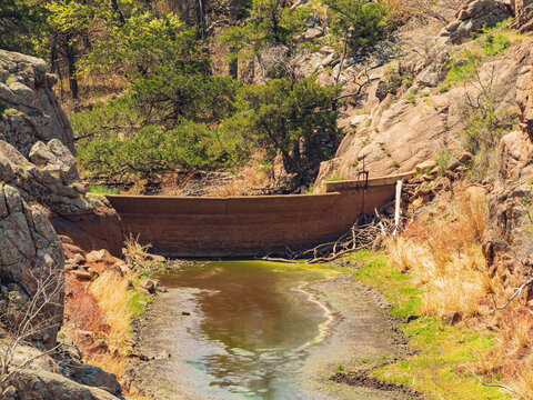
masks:
{"label": "entire pinkish-tan rocky cliff on the right, including right-edge rock face", "polygon": [[[501,104],[496,112],[516,110],[519,123],[516,130],[500,140],[494,153],[496,174],[484,182],[489,189],[491,223],[484,233],[483,250],[492,274],[509,287],[519,287],[533,268],[533,40],[531,36],[521,36],[503,53],[482,56],[474,77],[459,84],[446,80],[452,68],[469,62],[465,54],[475,51],[472,44],[483,39],[471,40],[472,33],[506,19],[515,38],[531,32],[533,1],[465,1],[452,22],[422,42],[425,50],[399,57],[392,63],[373,59],[362,71],[346,62],[341,73],[346,92],[364,84],[363,94],[348,104],[343,119],[348,134],[335,158],[322,163],[316,183],[332,177],[356,179],[363,166],[371,177],[376,177],[412,170],[425,160],[433,160],[440,151],[453,154],[460,149],[459,133],[466,127],[463,111],[469,96],[470,99],[480,96],[486,82],[491,82],[491,97]],[[322,68],[320,79],[324,82],[331,80],[325,67],[333,67],[333,74],[339,71],[338,56],[330,52],[322,61],[315,60],[316,68]],[[400,79],[394,82],[394,77]],[[460,156],[456,153],[455,158]],[[469,163],[470,159],[460,167],[462,172]],[[459,159],[451,163],[460,164]],[[435,162],[429,166],[436,174]],[[418,172],[422,174],[424,170]],[[416,203],[420,206],[428,201],[426,191],[434,191],[433,186],[450,187],[447,177],[453,174],[450,172],[444,171],[444,184],[439,181],[428,184],[424,179],[431,178],[428,174],[409,182],[404,203],[421,200]],[[414,188],[411,196],[410,184]]]}

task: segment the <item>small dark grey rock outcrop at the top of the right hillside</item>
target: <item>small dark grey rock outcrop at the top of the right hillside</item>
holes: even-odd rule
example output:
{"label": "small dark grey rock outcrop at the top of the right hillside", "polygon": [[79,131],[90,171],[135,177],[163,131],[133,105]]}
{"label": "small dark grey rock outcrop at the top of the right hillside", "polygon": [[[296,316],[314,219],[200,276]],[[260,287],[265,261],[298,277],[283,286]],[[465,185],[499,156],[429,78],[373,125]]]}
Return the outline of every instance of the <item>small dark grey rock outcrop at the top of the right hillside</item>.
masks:
{"label": "small dark grey rock outcrop at the top of the right hillside", "polygon": [[456,14],[457,19],[442,29],[439,44],[459,44],[472,33],[484,28],[494,27],[497,22],[511,17],[505,2],[497,0],[474,0],[465,3]]}

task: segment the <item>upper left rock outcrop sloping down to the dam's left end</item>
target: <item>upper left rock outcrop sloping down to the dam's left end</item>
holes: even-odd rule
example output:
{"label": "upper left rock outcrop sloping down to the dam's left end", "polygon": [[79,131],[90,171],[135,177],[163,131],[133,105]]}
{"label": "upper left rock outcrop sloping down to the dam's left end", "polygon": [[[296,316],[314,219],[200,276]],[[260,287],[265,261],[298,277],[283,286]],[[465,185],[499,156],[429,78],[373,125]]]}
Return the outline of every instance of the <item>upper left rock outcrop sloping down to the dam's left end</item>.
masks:
{"label": "upper left rock outcrop sloping down to the dam's left end", "polygon": [[84,196],[72,128],[52,91],[56,78],[46,70],[42,60],[0,50],[0,180],[26,201],[46,206],[58,233],[87,251],[120,256],[120,220]]}

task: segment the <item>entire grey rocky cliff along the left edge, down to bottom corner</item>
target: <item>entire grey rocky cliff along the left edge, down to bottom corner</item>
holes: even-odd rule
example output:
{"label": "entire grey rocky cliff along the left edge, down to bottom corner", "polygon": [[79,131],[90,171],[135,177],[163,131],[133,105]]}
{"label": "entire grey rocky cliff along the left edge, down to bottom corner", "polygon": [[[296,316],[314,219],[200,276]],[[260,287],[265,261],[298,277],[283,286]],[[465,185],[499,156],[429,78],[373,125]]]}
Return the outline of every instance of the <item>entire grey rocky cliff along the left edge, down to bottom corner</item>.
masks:
{"label": "entire grey rocky cliff along the left edge, down to bottom corner", "polygon": [[114,211],[86,196],[72,129],[46,70],[42,60],[0,50],[0,383],[12,374],[0,397],[114,399],[114,376],[57,342],[64,308],[58,233],[119,254],[123,234]]}

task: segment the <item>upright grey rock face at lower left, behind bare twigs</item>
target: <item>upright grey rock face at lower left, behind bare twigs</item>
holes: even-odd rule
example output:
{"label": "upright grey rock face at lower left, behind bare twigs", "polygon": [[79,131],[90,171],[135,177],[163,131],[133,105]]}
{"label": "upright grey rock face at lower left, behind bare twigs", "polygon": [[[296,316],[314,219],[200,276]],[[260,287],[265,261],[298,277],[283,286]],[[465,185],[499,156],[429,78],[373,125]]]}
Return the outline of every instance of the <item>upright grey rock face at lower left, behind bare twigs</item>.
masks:
{"label": "upright grey rock face at lower left, behind bare twigs", "polygon": [[46,307],[32,321],[42,329],[28,339],[54,346],[63,319],[63,264],[61,242],[46,211],[28,206],[14,187],[0,184],[0,308],[8,329],[17,329],[20,316],[42,302]]}

